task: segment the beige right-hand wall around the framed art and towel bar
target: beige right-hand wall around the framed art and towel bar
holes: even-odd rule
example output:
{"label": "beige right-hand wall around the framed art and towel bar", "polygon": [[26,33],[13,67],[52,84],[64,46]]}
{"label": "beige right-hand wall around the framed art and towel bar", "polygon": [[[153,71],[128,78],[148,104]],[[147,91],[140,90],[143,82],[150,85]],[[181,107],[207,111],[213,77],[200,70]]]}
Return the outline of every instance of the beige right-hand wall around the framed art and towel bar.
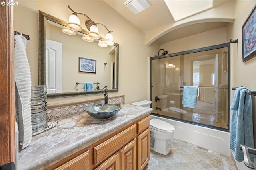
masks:
{"label": "beige right-hand wall around the framed art and towel bar", "polygon": [[[238,39],[237,44],[231,45],[231,86],[244,86],[256,90],[256,57],[242,62],[242,25],[256,4],[255,0],[236,1],[236,20],[228,26],[228,37]],[[234,90],[231,93],[233,99]],[[252,97],[254,119],[254,147],[256,146],[256,96]]]}

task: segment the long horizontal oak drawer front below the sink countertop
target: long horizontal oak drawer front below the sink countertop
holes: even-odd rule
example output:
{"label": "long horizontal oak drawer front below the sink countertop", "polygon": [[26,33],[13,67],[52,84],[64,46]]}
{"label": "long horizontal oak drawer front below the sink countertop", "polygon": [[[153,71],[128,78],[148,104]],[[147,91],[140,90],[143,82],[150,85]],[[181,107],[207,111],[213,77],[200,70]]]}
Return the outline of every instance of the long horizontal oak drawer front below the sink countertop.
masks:
{"label": "long horizontal oak drawer front below the sink countertop", "polygon": [[128,127],[114,137],[94,147],[94,166],[120,150],[136,137],[136,125]]}

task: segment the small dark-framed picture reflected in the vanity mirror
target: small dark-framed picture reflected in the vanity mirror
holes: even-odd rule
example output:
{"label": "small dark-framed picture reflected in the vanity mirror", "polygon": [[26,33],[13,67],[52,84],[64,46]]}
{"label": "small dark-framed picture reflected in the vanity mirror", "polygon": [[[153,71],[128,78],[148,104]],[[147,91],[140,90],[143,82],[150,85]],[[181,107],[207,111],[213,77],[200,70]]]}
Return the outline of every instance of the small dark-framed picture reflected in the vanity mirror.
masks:
{"label": "small dark-framed picture reflected in the vanity mirror", "polygon": [[96,73],[96,60],[79,57],[79,72]]}

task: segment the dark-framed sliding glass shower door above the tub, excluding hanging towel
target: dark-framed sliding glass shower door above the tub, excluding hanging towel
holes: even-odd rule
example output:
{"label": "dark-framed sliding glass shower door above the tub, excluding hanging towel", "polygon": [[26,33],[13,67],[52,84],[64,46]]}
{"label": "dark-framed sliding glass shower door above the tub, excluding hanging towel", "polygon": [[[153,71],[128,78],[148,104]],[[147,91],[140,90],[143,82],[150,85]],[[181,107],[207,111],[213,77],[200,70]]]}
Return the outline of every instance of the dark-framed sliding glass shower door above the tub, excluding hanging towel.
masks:
{"label": "dark-framed sliding glass shower door above the tub, excluding hanging towel", "polygon": [[[152,114],[229,130],[229,44],[151,57]],[[182,104],[183,86],[198,86],[195,108]]]}

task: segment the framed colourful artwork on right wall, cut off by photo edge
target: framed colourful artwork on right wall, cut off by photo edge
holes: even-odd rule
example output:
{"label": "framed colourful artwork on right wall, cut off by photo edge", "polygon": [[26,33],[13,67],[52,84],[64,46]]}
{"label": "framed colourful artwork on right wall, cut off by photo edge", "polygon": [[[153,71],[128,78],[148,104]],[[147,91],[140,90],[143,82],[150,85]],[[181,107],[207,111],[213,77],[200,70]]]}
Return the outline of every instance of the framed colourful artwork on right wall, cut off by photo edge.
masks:
{"label": "framed colourful artwork on right wall, cut off by photo edge", "polygon": [[242,26],[243,62],[256,55],[256,5]]}

